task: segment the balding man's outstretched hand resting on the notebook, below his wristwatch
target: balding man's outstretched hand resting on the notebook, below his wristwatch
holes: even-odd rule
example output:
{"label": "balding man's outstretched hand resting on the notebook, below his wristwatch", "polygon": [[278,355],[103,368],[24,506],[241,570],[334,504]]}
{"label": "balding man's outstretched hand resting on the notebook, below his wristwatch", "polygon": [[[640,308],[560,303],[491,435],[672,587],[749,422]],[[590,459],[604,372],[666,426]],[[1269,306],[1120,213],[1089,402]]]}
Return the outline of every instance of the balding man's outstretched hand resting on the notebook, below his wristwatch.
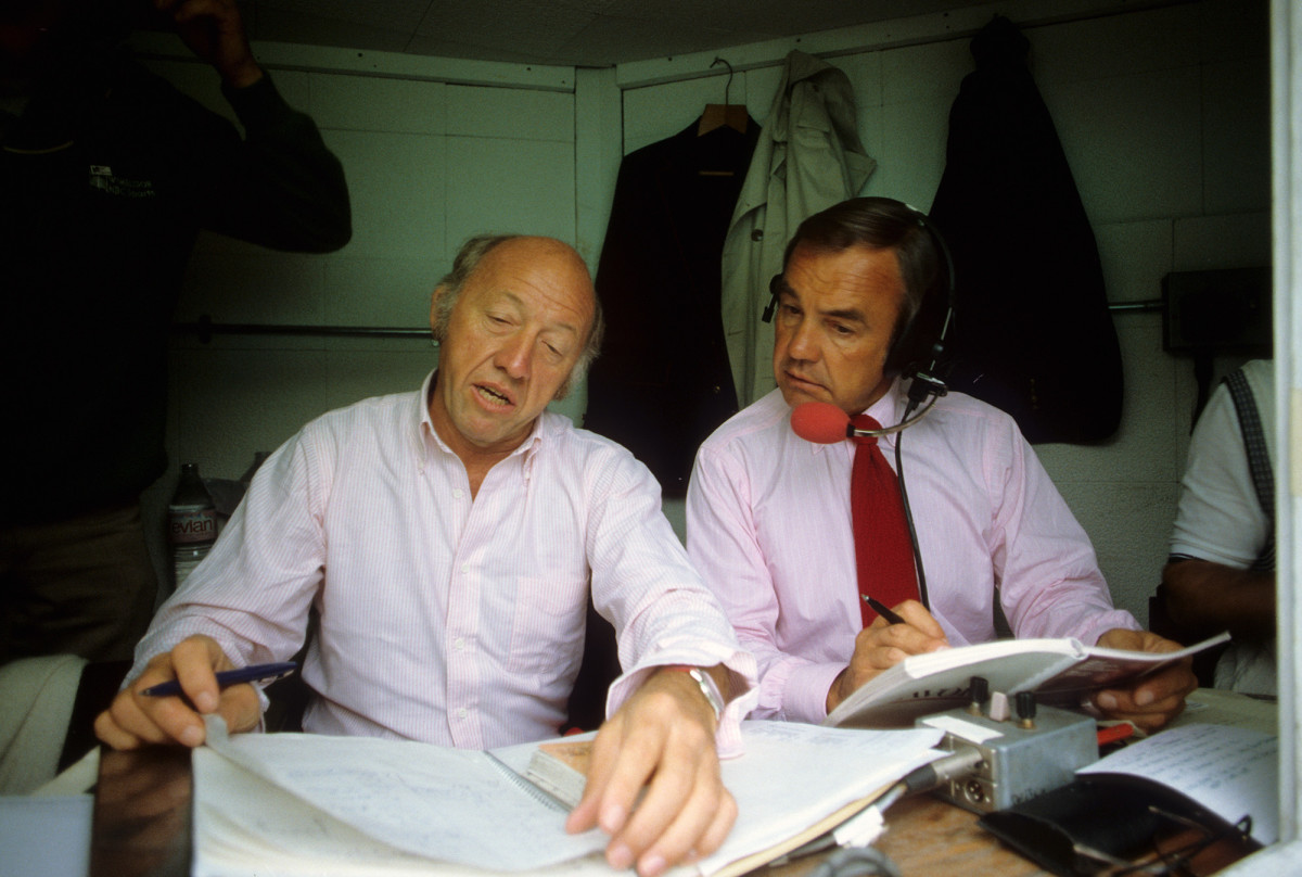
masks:
{"label": "balding man's outstretched hand resting on the notebook, below his wristwatch", "polygon": [[717,850],[736,818],[719,773],[713,709],[687,674],[660,670],[598,731],[565,830],[600,826],[611,835],[612,868],[637,864],[642,877],[655,877]]}

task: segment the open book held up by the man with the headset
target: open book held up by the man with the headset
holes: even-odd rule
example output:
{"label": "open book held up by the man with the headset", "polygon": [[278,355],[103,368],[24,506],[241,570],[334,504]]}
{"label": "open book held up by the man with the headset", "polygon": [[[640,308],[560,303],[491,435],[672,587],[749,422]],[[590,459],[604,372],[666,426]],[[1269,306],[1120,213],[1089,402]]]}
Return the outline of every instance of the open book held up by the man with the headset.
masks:
{"label": "open book held up by the man with the headset", "polygon": [[986,679],[992,692],[1034,691],[1042,702],[1072,706],[1088,692],[1125,685],[1228,639],[1221,633],[1163,653],[1088,646],[1064,637],[999,640],[915,654],[841,701],[824,725],[907,727],[918,717],[966,704],[973,676]]}

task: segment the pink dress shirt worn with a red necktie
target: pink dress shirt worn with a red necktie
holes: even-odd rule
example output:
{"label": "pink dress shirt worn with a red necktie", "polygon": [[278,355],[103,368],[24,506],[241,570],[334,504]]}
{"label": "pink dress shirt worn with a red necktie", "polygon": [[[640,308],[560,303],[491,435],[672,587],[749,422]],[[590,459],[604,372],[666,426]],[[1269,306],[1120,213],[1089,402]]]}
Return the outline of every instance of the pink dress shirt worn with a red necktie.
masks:
{"label": "pink dress shirt worn with a red necktie", "polygon": [[[866,412],[900,422],[900,384]],[[1016,422],[962,394],[902,434],[905,487],[931,611],[952,645],[995,639],[993,601],[1018,637],[1094,644],[1115,627],[1094,549]],[[879,439],[894,468],[897,437]],[[820,722],[862,629],[850,533],[854,444],[812,444],[769,392],[711,435],[687,490],[687,554],[759,661],[754,718]]]}

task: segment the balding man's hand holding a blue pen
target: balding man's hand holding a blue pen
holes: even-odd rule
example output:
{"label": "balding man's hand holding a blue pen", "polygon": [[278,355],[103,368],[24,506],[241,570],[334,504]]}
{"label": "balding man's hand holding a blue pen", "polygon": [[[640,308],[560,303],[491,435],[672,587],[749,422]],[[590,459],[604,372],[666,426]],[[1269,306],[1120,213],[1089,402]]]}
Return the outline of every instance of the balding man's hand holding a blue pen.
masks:
{"label": "balding man's hand holding a blue pen", "polygon": [[[216,640],[191,636],[150,661],[145,672],[120,691],[95,719],[95,734],[115,749],[146,744],[203,743],[203,715],[217,713],[232,732],[250,731],[262,719],[262,702],[249,683],[223,688],[217,672],[233,670]],[[176,680],[185,697],[158,697],[146,689]]]}

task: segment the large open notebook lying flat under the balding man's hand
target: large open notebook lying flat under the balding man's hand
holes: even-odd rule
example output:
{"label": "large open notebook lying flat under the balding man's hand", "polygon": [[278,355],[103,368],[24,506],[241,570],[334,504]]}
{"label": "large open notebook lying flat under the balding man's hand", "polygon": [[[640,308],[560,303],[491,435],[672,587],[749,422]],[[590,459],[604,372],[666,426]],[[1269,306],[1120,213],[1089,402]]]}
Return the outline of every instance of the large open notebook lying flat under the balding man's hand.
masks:
{"label": "large open notebook lying flat under the balding man's hand", "polygon": [[[746,722],[721,764],[738,817],[693,867],[751,870],[837,825],[943,753],[940,732]],[[195,749],[197,877],[611,874],[599,830],[569,835],[568,807],[525,779],[539,744],[492,752],[310,734],[227,736]]]}

